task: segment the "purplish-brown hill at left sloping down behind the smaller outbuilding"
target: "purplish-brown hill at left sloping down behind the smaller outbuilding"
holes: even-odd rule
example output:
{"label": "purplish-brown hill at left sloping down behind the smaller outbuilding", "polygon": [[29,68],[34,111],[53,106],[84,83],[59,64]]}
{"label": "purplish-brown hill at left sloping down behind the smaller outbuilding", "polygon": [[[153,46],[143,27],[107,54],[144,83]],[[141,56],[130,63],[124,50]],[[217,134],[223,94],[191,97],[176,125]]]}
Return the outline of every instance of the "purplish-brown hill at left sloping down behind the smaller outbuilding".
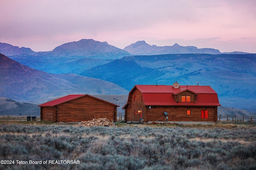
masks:
{"label": "purplish-brown hill at left sloping down behind the smaller outbuilding", "polygon": [[0,54],[0,96],[42,103],[68,94],[127,94],[120,86],[76,74],[49,74]]}

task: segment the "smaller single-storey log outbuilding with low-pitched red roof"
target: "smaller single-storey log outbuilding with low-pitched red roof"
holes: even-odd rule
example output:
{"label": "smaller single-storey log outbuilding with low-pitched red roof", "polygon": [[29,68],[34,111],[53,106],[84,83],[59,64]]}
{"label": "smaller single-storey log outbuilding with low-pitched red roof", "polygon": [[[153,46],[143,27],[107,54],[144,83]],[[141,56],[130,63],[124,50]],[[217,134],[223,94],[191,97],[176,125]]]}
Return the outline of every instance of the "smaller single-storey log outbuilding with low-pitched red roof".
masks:
{"label": "smaller single-storey log outbuilding with low-pitched red roof", "polygon": [[70,94],[40,106],[41,120],[54,122],[80,122],[106,117],[116,121],[116,104],[88,94]]}

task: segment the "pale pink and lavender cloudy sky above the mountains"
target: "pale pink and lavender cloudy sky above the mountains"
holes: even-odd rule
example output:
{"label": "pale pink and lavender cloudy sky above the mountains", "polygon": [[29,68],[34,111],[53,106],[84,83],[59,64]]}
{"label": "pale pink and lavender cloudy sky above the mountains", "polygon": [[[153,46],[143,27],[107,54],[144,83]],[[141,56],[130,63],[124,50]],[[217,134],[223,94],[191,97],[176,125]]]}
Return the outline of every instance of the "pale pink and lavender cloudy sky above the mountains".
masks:
{"label": "pale pink and lavender cloudy sky above the mountains", "polygon": [[256,0],[0,0],[0,42],[33,51],[94,39],[124,49],[195,46],[256,53]]}

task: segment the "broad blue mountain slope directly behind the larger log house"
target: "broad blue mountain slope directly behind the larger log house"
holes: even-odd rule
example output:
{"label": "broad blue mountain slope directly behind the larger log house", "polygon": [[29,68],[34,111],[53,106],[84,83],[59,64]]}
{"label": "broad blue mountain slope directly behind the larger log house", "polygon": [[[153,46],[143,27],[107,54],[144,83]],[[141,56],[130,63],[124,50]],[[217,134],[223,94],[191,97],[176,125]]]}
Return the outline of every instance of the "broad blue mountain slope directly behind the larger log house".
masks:
{"label": "broad blue mountain slope directly behind the larger log house", "polygon": [[128,56],[85,70],[84,76],[114,82],[126,90],[134,84],[211,86],[223,106],[256,108],[256,54],[168,54]]}

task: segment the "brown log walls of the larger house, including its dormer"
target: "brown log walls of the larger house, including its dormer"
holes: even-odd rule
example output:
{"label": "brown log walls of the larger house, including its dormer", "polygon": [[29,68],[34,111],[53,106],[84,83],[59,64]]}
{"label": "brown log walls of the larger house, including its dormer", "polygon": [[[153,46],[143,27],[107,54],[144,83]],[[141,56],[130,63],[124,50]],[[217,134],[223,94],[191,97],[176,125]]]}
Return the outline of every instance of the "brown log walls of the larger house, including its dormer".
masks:
{"label": "brown log walls of the larger house, including its dormer", "polygon": [[[136,96],[136,100],[134,100]],[[196,103],[196,94],[185,91],[174,95],[176,102],[181,102],[181,96],[190,96],[190,101]],[[138,122],[140,115],[134,114],[135,110],[142,111],[142,119],[145,121],[163,121],[165,120],[164,112],[169,113],[168,121],[217,121],[217,106],[145,106],[142,93],[138,89],[128,97],[128,106],[125,109],[125,121]],[[187,115],[187,110],[191,111]],[[208,110],[208,119],[201,118],[201,110]]]}

